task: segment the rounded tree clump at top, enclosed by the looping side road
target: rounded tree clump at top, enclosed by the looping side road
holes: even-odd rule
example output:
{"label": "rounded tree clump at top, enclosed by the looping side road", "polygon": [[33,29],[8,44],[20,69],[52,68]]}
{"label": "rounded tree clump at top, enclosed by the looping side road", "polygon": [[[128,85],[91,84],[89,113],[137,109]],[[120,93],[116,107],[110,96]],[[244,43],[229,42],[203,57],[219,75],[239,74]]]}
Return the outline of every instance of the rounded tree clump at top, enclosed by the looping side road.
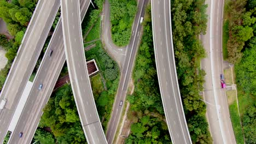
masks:
{"label": "rounded tree clump at top, enclosed by the looping side road", "polygon": [[130,41],[137,2],[135,0],[109,0],[109,4],[113,42],[118,46],[125,46]]}

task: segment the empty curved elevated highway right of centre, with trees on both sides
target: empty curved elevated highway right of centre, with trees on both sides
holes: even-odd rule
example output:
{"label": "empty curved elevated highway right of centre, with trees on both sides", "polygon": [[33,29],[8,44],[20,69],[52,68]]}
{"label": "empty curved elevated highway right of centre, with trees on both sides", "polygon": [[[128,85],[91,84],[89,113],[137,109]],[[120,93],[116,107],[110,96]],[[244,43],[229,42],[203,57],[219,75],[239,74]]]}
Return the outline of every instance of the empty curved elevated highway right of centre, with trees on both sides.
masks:
{"label": "empty curved elevated highway right of centre, with trees on both sides", "polygon": [[185,119],[174,60],[170,0],[151,1],[156,70],[172,143],[192,143]]}

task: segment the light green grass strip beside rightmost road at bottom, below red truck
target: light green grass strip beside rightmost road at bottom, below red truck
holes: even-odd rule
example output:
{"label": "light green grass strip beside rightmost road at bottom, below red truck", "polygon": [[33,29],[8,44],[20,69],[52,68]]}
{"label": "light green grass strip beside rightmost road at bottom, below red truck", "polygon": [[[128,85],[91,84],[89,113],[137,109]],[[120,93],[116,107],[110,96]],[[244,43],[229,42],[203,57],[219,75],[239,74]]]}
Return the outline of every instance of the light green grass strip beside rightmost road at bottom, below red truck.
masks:
{"label": "light green grass strip beside rightmost road at bottom, below red truck", "polygon": [[230,118],[231,118],[232,126],[234,129],[235,137],[236,137],[236,142],[242,144],[243,143],[243,133],[242,133],[242,128],[241,128],[241,124],[240,124],[240,117],[238,115],[236,101],[234,101],[234,102],[235,103],[233,103],[229,106]]}

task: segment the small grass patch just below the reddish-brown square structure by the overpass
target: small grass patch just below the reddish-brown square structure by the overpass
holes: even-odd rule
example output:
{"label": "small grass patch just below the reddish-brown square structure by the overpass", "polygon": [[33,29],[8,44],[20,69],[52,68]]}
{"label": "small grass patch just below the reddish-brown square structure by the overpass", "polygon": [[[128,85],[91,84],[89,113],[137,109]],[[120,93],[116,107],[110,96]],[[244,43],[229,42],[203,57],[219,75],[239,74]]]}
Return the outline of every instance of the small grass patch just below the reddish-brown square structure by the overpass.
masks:
{"label": "small grass patch just below the reddish-brown square structure by the overpass", "polygon": [[91,87],[92,89],[94,89],[94,95],[95,93],[100,94],[102,91],[104,91],[100,74],[97,74],[94,77],[91,77]]}

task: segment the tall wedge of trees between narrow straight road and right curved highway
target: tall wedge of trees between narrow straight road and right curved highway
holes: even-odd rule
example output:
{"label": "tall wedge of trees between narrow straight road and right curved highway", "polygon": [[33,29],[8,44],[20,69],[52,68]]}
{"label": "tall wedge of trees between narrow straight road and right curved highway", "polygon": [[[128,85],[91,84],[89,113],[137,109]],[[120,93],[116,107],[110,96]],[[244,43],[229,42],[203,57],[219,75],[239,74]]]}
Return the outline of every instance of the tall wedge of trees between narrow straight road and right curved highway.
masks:
{"label": "tall wedge of trees between narrow straight road and right curved highway", "polygon": [[135,90],[127,97],[127,115],[132,124],[125,143],[171,143],[156,74],[150,5],[143,23],[142,43],[132,75]]}

